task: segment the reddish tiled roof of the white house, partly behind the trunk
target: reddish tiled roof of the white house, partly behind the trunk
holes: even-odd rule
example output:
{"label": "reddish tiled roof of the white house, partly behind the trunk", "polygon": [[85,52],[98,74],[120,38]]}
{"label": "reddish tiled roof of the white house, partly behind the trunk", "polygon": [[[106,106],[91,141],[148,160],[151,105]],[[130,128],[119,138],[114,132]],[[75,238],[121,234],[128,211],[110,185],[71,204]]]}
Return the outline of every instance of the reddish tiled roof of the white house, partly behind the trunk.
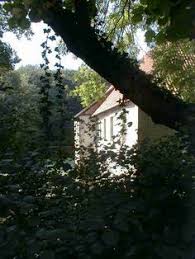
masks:
{"label": "reddish tiled roof of the white house, partly behind the trunk", "polygon": [[[145,73],[150,74],[152,73],[152,67],[153,60],[151,58],[151,55],[147,54],[140,62],[140,69],[143,70]],[[123,95],[118,90],[115,90],[114,86],[110,86],[102,99],[93,102],[89,107],[80,111],[78,114],[75,115],[75,118],[85,115],[96,116],[100,113],[119,106],[120,100],[122,99]]]}

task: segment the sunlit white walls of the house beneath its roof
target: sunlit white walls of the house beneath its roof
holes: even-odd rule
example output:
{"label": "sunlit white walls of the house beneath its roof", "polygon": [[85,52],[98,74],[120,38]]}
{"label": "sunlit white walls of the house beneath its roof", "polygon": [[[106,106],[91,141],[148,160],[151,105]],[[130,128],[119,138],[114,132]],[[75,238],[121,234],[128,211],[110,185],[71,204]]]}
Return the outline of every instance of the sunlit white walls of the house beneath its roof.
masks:
{"label": "sunlit white walls of the house beneath its roof", "polygon": [[[132,102],[126,104],[126,134],[121,143],[132,147],[137,142],[141,143],[146,139],[154,140],[163,136],[172,135],[174,131],[163,125],[155,124],[151,118],[139,109]],[[107,147],[121,138],[121,123],[119,119],[123,108],[117,106],[96,116],[84,115],[75,121],[75,146],[76,147],[95,147],[97,144],[97,125],[101,125],[101,137],[98,141],[100,148]],[[111,136],[111,117],[113,117],[113,135]],[[104,139],[104,120],[106,120],[106,140]],[[120,144],[121,144],[120,143]],[[116,145],[120,148],[120,145]]]}

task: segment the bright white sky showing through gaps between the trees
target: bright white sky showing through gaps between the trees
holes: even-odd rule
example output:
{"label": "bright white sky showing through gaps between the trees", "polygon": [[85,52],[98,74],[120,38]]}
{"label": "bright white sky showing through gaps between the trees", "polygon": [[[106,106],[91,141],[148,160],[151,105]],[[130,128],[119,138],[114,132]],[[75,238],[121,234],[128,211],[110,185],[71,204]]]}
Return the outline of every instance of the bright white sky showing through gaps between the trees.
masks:
{"label": "bright white sky showing through gaps between the trees", "polygon": [[[21,62],[16,65],[16,69],[25,66],[28,64],[31,65],[40,65],[43,63],[41,57],[42,47],[41,44],[45,41],[45,34],[43,29],[47,28],[45,24],[41,23],[32,23],[32,31],[34,35],[28,40],[25,36],[22,36],[20,39],[11,33],[7,32],[4,34],[3,40],[11,45],[11,47],[16,51]],[[142,31],[138,31],[136,36],[136,41],[140,47],[139,58],[141,58],[148,50],[146,43],[144,42],[144,34]],[[56,44],[53,42],[51,47],[55,48]],[[51,54],[49,57],[50,67],[54,68],[56,63],[55,55]],[[65,69],[78,69],[82,64],[82,61],[79,58],[76,58],[73,54],[69,53],[66,56],[62,57],[62,65]]]}

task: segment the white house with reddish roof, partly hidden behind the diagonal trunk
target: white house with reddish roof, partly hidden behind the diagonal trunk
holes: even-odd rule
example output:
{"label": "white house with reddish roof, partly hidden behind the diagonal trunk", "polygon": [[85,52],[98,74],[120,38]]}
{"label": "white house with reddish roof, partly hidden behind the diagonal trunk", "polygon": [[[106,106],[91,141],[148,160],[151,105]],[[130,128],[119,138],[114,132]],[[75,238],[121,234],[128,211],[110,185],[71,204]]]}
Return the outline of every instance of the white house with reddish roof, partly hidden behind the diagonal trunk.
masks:
{"label": "white house with reddish roof, partly hidden behind the diagonal trunk", "polygon": [[[146,73],[152,71],[152,59],[145,56],[140,69]],[[123,95],[110,87],[105,96],[75,116],[75,145],[78,148],[96,148],[116,143],[132,147],[136,143],[155,140],[173,134],[173,130],[155,124],[131,100],[123,100]]]}

